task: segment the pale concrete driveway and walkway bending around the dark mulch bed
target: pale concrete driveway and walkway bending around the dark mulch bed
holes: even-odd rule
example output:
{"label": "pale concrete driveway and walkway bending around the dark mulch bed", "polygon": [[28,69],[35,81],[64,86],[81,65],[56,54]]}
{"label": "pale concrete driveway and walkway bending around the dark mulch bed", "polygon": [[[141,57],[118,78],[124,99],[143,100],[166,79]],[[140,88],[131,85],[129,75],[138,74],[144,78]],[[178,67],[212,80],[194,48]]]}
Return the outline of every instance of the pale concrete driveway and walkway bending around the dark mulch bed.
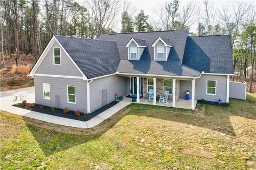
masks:
{"label": "pale concrete driveway and walkway bending around the dark mulch bed", "polygon": [[80,120],[74,120],[74,119],[68,119],[58,116],[52,116],[47,114],[42,114],[40,112],[36,111],[30,111],[27,109],[22,109],[18,107],[12,106],[13,100],[15,99],[15,96],[18,96],[18,102],[20,103],[21,98],[27,100],[28,103],[34,103],[35,102],[35,90],[34,87],[27,87],[27,88],[20,88],[17,90],[11,90],[11,91],[5,91],[0,93],[1,98],[1,106],[0,109],[10,112],[12,114],[20,115],[20,116],[26,116],[38,120],[43,120],[45,122],[54,123],[58,125],[63,126],[70,126],[70,127],[79,127],[79,128],[91,128],[95,125],[100,124],[110,116],[114,115],[117,111],[123,109],[127,105],[129,105],[131,102],[119,102],[115,106],[109,108],[108,110],[103,111],[101,114],[95,116],[94,118],[83,122]]}

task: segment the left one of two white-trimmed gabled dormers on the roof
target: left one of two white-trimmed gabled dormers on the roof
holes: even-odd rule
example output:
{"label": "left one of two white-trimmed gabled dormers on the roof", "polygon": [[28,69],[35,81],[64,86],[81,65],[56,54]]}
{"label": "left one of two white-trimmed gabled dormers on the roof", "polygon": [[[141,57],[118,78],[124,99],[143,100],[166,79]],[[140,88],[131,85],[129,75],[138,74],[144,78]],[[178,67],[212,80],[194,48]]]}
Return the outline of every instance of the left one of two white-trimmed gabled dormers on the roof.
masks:
{"label": "left one of two white-trimmed gabled dormers on the roof", "polygon": [[128,60],[140,60],[140,57],[147,47],[145,40],[132,38],[125,45],[128,50]]}

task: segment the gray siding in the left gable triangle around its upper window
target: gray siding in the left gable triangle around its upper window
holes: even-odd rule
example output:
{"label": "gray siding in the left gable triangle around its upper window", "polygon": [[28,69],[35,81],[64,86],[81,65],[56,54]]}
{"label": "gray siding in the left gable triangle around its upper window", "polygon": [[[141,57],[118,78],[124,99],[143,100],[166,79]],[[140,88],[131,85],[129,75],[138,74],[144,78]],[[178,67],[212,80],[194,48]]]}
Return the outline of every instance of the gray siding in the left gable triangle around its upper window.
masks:
{"label": "gray siding in the left gable triangle around its upper window", "polygon": [[53,64],[53,47],[60,47],[58,42],[53,43],[44,60],[36,70],[36,74],[62,75],[62,76],[82,76],[75,64],[69,59],[68,55],[60,47],[60,65]]}

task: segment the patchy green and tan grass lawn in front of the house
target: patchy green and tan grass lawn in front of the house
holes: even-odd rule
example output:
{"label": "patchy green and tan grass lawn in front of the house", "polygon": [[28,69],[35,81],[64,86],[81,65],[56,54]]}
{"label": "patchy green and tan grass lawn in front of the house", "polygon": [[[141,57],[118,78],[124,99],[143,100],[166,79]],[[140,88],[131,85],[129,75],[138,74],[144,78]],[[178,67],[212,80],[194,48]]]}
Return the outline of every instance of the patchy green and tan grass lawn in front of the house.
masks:
{"label": "patchy green and tan grass lawn in front of the house", "polygon": [[124,110],[96,135],[36,127],[2,111],[1,169],[256,168],[256,94],[229,107],[206,104],[205,117],[142,104]]}

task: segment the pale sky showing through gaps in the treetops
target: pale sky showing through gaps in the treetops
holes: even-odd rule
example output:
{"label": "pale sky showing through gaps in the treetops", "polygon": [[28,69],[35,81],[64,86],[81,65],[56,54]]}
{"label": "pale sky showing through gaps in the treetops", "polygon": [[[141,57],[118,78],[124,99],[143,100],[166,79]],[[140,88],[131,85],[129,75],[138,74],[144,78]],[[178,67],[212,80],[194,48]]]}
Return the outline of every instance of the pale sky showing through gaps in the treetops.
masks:
{"label": "pale sky showing through gaps in the treetops", "polygon": [[[85,3],[85,1],[83,0],[78,0],[80,1],[82,4]],[[180,0],[180,7],[183,6],[184,4],[188,3],[191,0]],[[136,12],[133,15],[133,18],[135,17],[135,15],[137,15],[139,13],[140,10],[144,10],[145,14],[149,15],[149,21],[152,20],[156,20],[156,14],[154,13],[154,11],[156,9],[159,8],[159,5],[162,4],[164,1],[147,1],[147,0],[140,0],[140,1],[135,1],[135,0],[130,0],[128,1],[131,3],[131,5],[135,8]],[[195,2],[199,9],[203,10],[204,5],[203,5],[203,1],[202,0],[195,0],[193,1]],[[227,1],[227,0],[222,0],[222,1],[209,1],[210,3],[213,4],[213,9],[218,9],[221,6],[228,6],[228,10],[229,12],[232,12],[233,10],[233,5],[237,4],[238,2],[241,1]],[[256,5],[256,0],[254,1],[244,1],[244,2],[252,2]],[[114,30],[117,31],[118,33],[121,31],[121,13],[118,15],[117,17],[117,24],[114,27]],[[217,19],[217,17],[215,17]],[[196,32],[197,31],[197,24],[198,21],[196,21],[194,23],[194,25],[190,26],[190,32]]]}

